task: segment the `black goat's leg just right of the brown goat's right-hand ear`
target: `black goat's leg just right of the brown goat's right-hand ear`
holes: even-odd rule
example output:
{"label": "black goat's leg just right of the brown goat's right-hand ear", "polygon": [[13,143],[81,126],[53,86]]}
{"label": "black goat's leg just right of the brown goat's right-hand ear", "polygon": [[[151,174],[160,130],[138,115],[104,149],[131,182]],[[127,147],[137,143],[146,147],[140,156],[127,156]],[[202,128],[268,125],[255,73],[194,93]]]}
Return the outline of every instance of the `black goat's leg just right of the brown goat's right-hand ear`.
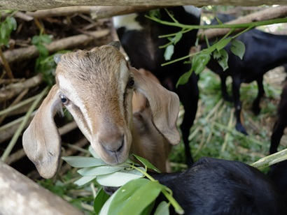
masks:
{"label": "black goat's leg just right of the brown goat's right-hand ear", "polygon": [[198,77],[193,74],[187,84],[180,85],[176,90],[185,110],[181,123],[181,133],[185,147],[186,163],[189,167],[193,165],[193,156],[191,155],[188,136],[190,135],[190,128],[193,126],[193,121],[195,120],[199,99],[197,78]]}

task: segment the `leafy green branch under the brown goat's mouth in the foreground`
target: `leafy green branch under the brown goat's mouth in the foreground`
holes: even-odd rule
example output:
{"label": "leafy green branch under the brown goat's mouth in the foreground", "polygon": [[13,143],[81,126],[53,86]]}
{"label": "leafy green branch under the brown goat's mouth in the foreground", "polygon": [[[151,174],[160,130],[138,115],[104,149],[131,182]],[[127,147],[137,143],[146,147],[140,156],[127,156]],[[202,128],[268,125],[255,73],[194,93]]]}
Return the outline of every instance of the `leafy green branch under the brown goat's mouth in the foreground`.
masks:
{"label": "leafy green branch under the brown goat's mouth in the foreground", "polygon": [[148,174],[148,169],[160,171],[145,158],[133,155],[144,168],[130,159],[120,165],[111,166],[104,163],[92,147],[89,151],[93,157],[69,156],[62,159],[69,165],[80,168],[78,173],[82,177],[74,182],[78,186],[94,179],[101,186],[120,186],[111,198],[108,198],[104,191],[99,191],[94,200],[96,214],[127,214],[129,211],[134,214],[148,214],[153,208],[151,203],[160,193],[165,195],[169,202],[161,202],[155,214],[159,212],[168,214],[169,205],[172,205],[178,214],[183,214],[183,209],[172,197],[172,191]]}

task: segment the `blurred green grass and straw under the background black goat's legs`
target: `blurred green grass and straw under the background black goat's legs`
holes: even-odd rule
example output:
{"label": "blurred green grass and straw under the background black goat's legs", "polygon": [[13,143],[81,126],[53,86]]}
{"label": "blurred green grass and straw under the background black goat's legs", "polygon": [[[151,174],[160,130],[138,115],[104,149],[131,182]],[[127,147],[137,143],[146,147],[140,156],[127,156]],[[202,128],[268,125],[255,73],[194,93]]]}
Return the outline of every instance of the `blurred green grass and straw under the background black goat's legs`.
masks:
{"label": "blurred green grass and straw under the background black goat's legs", "polygon": [[[231,80],[228,80],[230,91]],[[248,136],[235,130],[233,104],[223,101],[218,75],[204,71],[200,75],[200,101],[195,124],[190,131],[190,147],[195,161],[202,156],[224,158],[251,164],[265,157],[269,150],[269,138],[276,116],[276,101],[281,88],[265,84],[266,96],[260,103],[262,110],[258,116],[251,112],[251,104],[257,95],[255,82],[242,84],[241,101],[244,126]],[[183,143],[174,147],[170,156],[174,170],[183,170]]]}

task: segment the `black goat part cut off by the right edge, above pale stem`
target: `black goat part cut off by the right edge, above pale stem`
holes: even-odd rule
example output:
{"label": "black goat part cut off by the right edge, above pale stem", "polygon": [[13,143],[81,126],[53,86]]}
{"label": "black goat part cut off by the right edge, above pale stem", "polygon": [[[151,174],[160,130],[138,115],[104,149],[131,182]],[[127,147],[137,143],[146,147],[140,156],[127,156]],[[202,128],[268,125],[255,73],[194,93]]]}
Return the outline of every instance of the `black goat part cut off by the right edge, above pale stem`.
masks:
{"label": "black goat part cut off by the right edge, above pale stem", "polygon": [[281,99],[277,108],[277,119],[275,121],[272,135],[269,153],[273,154],[277,152],[280,140],[283,136],[284,129],[287,126],[287,82],[283,85],[281,93]]}

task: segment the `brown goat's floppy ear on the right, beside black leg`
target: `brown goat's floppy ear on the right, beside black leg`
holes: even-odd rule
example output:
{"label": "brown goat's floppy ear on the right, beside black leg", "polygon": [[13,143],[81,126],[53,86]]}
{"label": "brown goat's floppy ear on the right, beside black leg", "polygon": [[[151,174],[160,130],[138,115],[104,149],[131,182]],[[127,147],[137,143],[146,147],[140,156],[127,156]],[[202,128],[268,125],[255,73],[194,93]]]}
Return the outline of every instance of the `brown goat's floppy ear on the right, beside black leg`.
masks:
{"label": "brown goat's floppy ear on the right, beside black leg", "polygon": [[135,91],[140,91],[148,99],[153,115],[153,124],[160,133],[171,143],[178,144],[181,140],[176,128],[176,120],[179,116],[179,96],[165,89],[151,78],[141,75],[135,68]]}

